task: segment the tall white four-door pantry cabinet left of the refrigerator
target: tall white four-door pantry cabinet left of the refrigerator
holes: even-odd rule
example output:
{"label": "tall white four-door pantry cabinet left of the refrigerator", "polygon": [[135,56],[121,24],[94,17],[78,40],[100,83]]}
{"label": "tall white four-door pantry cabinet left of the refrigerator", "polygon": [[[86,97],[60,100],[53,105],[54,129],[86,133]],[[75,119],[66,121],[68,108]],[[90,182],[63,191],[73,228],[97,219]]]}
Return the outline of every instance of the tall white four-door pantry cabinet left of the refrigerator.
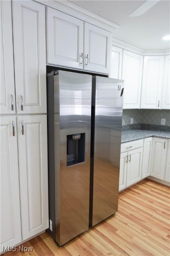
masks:
{"label": "tall white four-door pantry cabinet left of the refrigerator", "polygon": [[48,228],[48,177],[45,6],[0,6],[2,251]]}

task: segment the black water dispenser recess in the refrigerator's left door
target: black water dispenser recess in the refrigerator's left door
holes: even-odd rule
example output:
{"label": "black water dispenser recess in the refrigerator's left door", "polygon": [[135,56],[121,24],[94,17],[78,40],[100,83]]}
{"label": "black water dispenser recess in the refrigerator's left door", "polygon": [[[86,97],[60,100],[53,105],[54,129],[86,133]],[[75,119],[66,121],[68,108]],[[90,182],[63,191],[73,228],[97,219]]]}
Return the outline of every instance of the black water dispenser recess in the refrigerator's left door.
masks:
{"label": "black water dispenser recess in the refrigerator's left door", "polygon": [[67,166],[85,161],[85,133],[67,135]]}

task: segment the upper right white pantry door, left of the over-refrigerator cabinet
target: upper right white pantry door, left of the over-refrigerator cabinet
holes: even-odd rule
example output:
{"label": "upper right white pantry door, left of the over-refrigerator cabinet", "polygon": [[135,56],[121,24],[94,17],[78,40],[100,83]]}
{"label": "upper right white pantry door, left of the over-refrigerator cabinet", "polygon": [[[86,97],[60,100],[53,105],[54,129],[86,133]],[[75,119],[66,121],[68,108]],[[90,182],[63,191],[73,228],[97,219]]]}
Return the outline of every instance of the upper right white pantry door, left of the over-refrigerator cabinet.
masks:
{"label": "upper right white pantry door, left of the over-refrigerator cabinet", "polygon": [[12,4],[17,113],[46,113],[45,6]]}

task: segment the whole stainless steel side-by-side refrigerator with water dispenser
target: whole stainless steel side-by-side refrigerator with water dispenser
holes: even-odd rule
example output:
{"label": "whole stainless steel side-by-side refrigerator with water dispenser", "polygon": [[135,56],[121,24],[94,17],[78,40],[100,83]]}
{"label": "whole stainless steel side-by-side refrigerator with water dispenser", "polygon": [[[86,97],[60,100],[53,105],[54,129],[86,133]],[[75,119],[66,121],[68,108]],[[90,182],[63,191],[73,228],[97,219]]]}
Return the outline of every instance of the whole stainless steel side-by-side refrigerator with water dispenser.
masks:
{"label": "whole stainless steel side-by-side refrigerator with water dispenser", "polygon": [[58,245],[117,211],[122,94],[122,80],[47,74],[48,232]]}

